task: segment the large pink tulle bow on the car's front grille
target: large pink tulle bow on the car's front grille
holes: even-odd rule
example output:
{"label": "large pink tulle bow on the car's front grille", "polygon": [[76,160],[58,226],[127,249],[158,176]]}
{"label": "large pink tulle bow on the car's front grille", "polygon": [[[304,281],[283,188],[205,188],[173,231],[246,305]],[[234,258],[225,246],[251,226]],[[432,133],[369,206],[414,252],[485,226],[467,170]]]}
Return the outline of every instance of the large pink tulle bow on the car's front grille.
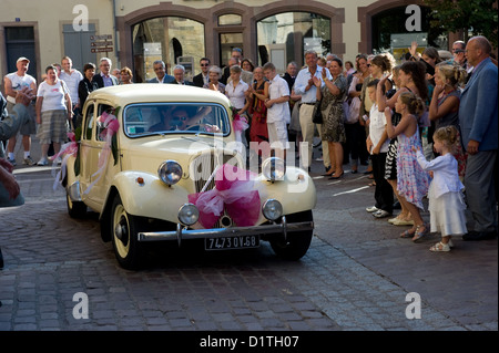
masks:
{"label": "large pink tulle bow on the car's front grille", "polygon": [[226,209],[238,227],[254,226],[261,209],[256,174],[226,164],[214,174],[214,189],[189,195],[189,201],[200,210],[200,224],[213,228]]}

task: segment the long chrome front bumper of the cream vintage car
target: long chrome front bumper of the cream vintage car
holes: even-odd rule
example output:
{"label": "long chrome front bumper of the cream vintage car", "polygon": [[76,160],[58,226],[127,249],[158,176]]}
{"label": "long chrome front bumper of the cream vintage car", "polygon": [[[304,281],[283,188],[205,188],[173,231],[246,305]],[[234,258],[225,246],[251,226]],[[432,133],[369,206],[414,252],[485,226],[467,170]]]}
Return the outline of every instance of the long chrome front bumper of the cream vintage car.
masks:
{"label": "long chrome front bumper of the cream vintage car", "polygon": [[284,236],[287,238],[288,232],[305,231],[314,229],[314,221],[303,221],[288,224],[286,217],[283,216],[281,224],[262,225],[254,227],[228,227],[228,228],[211,228],[211,229],[185,229],[184,226],[177,224],[176,230],[172,231],[149,231],[139,232],[139,241],[163,241],[176,240],[179,246],[182,240],[189,239],[213,239],[240,236]]}

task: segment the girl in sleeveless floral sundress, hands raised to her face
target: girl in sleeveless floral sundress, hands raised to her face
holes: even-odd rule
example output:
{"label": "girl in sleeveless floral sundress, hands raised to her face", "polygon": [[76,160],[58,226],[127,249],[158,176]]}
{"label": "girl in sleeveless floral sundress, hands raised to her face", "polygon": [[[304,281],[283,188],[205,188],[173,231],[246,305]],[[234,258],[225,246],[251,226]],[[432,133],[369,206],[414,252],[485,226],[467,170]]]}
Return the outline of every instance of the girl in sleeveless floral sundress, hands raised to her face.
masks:
{"label": "girl in sleeveless floral sundress, hands raised to her face", "polygon": [[399,200],[413,216],[414,226],[400,235],[401,238],[413,238],[416,242],[427,232],[427,226],[422,221],[420,209],[422,197],[428,191],[428,174],[419,166],[413,147],[420,148],[417,116],[425,108],[422,100],[411,92],[401,93],[395,103],[395,111],[400,113],[400,123],[396,127],[391,124],[391,110],[385,108],[386,132],[389,138],[397,136],[397,191]]}

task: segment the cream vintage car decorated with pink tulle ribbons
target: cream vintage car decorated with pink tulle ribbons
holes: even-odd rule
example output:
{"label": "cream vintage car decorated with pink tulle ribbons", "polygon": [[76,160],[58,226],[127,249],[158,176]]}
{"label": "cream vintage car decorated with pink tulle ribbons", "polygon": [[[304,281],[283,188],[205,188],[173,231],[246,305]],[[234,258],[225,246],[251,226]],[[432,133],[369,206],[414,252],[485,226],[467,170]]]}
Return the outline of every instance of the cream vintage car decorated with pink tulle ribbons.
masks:
{"label": "cream vintage car decorated with pink tulle ribbons", "polygon": [[153,241],[204,239],[205,250],[222,250],[265,240],[283,258],[302,258],[314,229],[314,183],[278,157],[265,158],[261,173],[246,170],[233,120],[230,101],[211,90],[92,92],[61,170],[69,215],[99,212],[102,239],[126,269],[140,268]]}

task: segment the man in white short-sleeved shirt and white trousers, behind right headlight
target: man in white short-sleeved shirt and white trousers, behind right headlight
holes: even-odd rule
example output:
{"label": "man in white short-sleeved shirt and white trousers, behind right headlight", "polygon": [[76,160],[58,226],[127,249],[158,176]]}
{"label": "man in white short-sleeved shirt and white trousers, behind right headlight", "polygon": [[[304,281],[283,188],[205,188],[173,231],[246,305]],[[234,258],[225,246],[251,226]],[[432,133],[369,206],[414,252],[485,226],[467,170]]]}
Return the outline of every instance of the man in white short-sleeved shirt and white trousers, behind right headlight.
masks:
{"label": "man in white short-sleeved shirt and white trousers, behind right headlight", "polygon": [[263,66],[265,77],[271,83],[268,87],[268,100],[265,101],[267,107],[267,129],[271,148],[276,150],[276,155],[286,158],[286,149],[289,148],[287,138],[287,124],[291,122],[289,113],[289,87],[287,82],[277,75],[275,65],[267,62]]}

